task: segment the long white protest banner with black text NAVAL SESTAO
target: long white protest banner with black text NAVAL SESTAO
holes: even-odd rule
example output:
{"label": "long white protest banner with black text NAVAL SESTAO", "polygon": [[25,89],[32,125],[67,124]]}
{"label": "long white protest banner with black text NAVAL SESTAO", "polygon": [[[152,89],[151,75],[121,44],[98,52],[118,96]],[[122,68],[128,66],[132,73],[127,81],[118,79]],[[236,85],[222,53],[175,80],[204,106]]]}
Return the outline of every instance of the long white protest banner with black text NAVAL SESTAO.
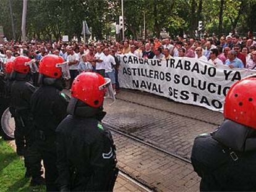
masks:
{"label": "long white protest banner with black text NAVAL SESTAO", "polygon": [[118,77],[122,88],[147,91],[220,112],[230,86],[256,73],[189,57],[160,61],[126,54],[120,60]]}

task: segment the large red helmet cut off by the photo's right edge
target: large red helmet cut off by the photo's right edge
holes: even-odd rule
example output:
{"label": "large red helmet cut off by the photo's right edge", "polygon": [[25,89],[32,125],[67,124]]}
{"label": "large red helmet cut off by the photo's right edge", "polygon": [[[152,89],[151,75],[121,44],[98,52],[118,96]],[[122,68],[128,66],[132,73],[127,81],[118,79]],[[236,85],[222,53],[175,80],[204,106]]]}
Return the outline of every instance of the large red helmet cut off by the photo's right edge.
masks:
{"label": "large red helmet cut off by the photo's right edge", "polygon": [[256,76],[234,83],[225,99],[224,117],[256,129]]}

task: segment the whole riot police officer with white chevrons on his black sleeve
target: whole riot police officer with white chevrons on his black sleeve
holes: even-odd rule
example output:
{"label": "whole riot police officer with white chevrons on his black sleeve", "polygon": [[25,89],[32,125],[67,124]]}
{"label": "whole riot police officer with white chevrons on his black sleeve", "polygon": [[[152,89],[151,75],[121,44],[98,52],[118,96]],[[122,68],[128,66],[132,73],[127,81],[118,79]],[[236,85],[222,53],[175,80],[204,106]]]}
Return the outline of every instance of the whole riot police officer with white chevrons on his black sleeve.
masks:
{"label": "whole riot police officer with white chevrons on his black sleeve", "polygon": [[61,191],[112,191],[116,181],[116,148],[101,119],[106,89],[111,81],[84,72],[72,83],[67,117],[59,124],[57,152]]}

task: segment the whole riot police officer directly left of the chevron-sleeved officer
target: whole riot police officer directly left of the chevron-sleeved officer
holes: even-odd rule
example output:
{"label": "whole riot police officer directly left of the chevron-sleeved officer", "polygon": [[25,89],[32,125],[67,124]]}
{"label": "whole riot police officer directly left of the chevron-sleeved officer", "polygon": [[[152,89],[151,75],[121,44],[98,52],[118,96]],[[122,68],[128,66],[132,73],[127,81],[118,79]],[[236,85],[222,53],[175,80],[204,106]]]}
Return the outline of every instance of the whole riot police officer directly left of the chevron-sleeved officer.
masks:
{"label": "whole riot police officer directly left of the chevron-sleeved officer", "polygon": [[33,121],[38,133],[34,148],[40,151],[45,166],[46,190],[57,191],[55,130],[66,116],[67,98],[61,93],[64,78],[69,78],[68,64],[55,55],[43,57],[39,65],[40,88],[31,99]]}

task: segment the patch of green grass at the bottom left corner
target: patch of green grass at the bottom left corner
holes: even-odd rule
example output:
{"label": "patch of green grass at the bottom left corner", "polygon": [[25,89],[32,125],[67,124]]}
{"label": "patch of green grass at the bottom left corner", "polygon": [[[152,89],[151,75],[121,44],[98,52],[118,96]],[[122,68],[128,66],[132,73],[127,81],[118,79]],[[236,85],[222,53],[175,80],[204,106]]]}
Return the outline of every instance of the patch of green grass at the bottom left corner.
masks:
{"label": "patch of green grass at the bottom left corner", "polygon": [[0,138],[0,191],[45,191],[45,186],[30,187],[30,178],[25,178],[22,158]]}

